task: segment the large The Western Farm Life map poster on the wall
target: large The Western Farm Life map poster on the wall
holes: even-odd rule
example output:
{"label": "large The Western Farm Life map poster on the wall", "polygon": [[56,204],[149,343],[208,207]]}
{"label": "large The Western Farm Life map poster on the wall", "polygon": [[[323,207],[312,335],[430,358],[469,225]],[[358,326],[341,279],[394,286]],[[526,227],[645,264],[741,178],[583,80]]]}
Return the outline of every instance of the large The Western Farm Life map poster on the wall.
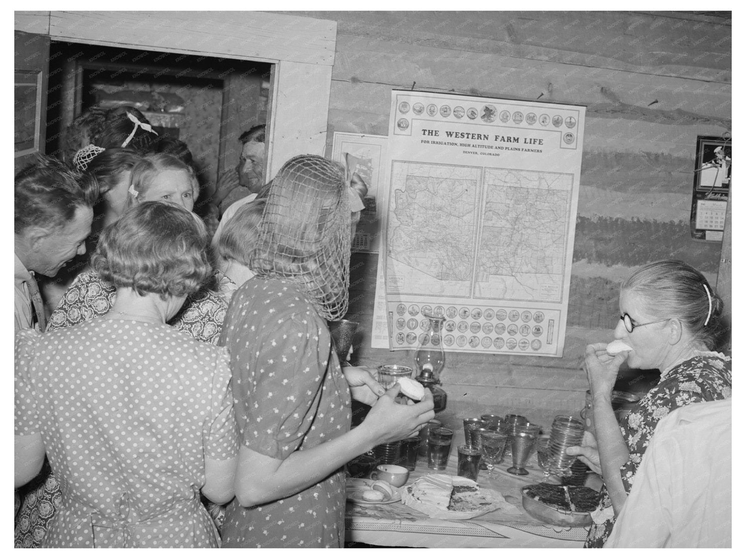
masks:
{"label": "large The Western Farm Life map poster on the wall", "polygon": [[[374,345],[561,357],[585,107],[393,90]],[[383,333],[385,331],[385,334]]]}

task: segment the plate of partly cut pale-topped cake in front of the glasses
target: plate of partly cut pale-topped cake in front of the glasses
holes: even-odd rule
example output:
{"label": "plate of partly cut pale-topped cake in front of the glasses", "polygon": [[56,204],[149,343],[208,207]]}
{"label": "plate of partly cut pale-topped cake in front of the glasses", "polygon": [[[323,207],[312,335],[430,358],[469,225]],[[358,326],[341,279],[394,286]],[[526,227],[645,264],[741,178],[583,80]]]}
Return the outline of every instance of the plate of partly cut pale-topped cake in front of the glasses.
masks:
{"label": "plate of partly cut pale-topped cake in front of the glasses", "polygon": [[430,518],[466,520],[498,509],[507,514],[521,513],[499,491],[479,487],[477,482],[457,475],[423,475],[403,489],[404,505]]}

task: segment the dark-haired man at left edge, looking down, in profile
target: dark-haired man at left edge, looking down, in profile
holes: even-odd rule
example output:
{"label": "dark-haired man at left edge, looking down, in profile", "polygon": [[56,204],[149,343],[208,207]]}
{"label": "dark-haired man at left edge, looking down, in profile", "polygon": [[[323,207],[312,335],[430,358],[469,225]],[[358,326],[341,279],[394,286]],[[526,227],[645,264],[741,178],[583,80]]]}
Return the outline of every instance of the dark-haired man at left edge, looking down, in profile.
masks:
{"label": "dark-haired man at left edge, looking down, in profile", "polygon": [[14,185],[15,330],[44,331],[46,315],[35,274],[54,278],[85,254],[96,189],[81,187],[63,163],[39,157],[16,175]]}

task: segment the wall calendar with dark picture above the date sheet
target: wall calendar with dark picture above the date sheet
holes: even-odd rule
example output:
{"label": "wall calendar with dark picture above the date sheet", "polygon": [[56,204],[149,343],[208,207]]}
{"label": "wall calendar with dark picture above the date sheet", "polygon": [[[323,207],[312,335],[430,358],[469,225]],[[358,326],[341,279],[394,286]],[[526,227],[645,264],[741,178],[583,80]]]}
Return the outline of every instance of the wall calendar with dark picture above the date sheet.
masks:
{"label": "wall calendar with dark picture above the date sheet", "polygon": [[733,167],[732,138],[698,136],[692,187],[692,239],[720,243]]}

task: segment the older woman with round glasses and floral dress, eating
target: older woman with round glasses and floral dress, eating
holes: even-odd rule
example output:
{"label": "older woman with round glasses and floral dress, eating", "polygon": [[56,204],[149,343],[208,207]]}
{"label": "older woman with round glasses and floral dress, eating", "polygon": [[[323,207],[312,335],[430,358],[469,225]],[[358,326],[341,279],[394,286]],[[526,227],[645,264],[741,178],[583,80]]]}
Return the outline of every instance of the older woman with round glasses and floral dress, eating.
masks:
{"label": "older woman with round glasses and floral dress, eating", "polygon": [[[730,357],[713,352],[722,333],[723,302],[696,269],[661,260],[637,269],[621,284],[615,342],[586,348],[595,436],[586,431],[580,456],[604,479],[586,547],[602,547],[630,493],[656,425],[678,407],[730,397]],[[617,340],[624,344],[623,349]],[[621,363],[658,369],[658,384],[617,422],[611,396]]]}

